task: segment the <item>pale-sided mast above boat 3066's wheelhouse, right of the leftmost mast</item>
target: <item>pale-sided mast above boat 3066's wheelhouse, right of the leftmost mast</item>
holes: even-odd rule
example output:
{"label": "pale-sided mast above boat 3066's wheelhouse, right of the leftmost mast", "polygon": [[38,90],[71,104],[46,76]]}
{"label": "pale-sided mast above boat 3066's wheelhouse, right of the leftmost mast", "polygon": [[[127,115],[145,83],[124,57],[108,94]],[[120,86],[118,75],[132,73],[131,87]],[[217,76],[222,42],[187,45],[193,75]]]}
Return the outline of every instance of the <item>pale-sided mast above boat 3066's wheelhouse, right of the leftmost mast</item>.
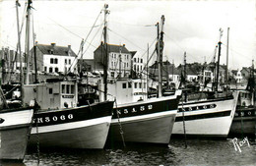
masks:
{"label": "pale-sided mast above boat 3066's wheelhouse, right of the leftmost mast", "polygon": [[26,72],[26,84],[30,83],[30,29],[31,29],[31,8],[32,8],[32,0],[28,0],[28,8],[27,8],[27,24],[26,24],[26,62],[27,62],[27,72]]}

